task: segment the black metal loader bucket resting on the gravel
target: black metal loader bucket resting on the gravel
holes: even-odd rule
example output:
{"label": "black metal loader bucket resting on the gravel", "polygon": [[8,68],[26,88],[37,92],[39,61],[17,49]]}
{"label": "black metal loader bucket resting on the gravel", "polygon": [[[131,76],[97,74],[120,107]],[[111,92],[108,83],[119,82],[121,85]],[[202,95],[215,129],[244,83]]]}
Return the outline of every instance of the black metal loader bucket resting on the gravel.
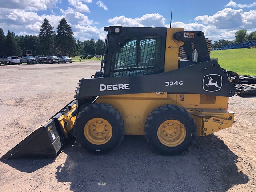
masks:
{"label": "black metal loader bucket resting on the gravel", "polygon": [[76,101],[70,102],[56,113],[55,116],[40,125],[38,129],[33,131],[0,159],[44,158],[57,156],[60,148],[65,143],[58,119],[67,112],[70,112],[71,106],[74,104],[76,104]]}

